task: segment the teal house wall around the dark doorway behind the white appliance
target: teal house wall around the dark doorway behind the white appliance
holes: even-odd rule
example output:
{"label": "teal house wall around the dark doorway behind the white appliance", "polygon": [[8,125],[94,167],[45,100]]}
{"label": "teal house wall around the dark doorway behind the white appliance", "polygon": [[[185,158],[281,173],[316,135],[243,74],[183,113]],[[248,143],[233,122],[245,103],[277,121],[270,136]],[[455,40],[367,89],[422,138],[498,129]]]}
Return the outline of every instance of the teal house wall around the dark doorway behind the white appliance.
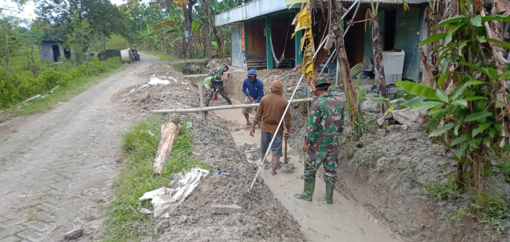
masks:
{"label": "teal house wall around the dark doorway behind the white appliance", "polygon": [[[402,77],[407,77],[417,80],[419,77],[418,67],[418,55],[415,54],[418,49],[416,34],[420,31],[420,21],[423,10],[421,6],[410,6],[410,10],[405,12],[403,8],[392,7],[392,8],[380,8],[379,7],[379,31],[384,35],[384,10],[397,10],[396,26],[395,26],[395,48],[403,49],[405,52],[404,57],[404,68]],[[382,37],[382,48],[384,50],[385,43],[384,37]],[[372,50],[372,28],[367,26],[367,31],[364,36],[363,55],[369,57],[373,61],[373,50]],[[414,55],[414,59],[413,59]],[[356,64],[356,63],[352,63]],[[407,70],[409,69],[409,72]],[[405,75],[407,72],[407,75]]]}

